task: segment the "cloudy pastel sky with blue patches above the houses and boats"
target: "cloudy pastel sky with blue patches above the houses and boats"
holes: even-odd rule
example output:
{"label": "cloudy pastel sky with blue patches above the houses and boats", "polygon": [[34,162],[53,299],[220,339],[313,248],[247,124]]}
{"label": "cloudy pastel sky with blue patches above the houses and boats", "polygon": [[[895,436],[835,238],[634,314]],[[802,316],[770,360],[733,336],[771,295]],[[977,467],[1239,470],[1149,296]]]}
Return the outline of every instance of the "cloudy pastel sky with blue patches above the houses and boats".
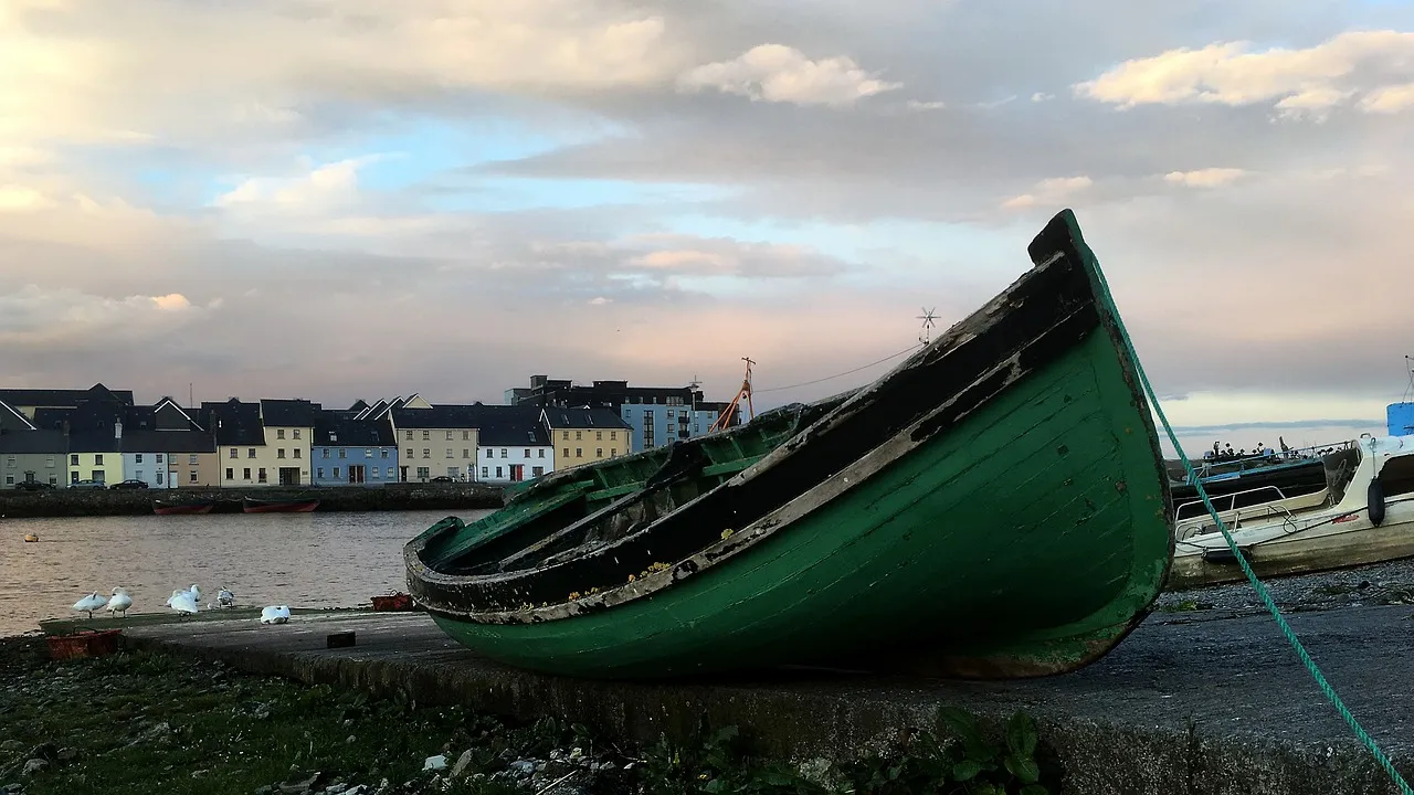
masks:
{"label": "cloudy pastel sky with blue patches above the houses and boats", "polygon": [[1410,382],[1408,3],[0,0],[0,386],[728,399],[749,355],[759,410],[1063,208],[1185,446]]}

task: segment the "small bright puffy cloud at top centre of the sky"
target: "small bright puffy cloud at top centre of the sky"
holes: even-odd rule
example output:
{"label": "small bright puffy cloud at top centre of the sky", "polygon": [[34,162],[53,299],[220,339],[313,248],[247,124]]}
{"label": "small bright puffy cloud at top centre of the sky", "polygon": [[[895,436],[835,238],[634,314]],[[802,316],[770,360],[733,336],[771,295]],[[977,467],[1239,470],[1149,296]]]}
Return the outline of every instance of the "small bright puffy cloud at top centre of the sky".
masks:
{"label": "small bright puffy cloud at top centre of the sky", "polygon": [[754,102],[844,108],[865,96],[902,88],[865,72],[853,58],[812,61],[793,47],[761,44],[731,61],[696,66],[677,78],[679,91],[717,89]]}

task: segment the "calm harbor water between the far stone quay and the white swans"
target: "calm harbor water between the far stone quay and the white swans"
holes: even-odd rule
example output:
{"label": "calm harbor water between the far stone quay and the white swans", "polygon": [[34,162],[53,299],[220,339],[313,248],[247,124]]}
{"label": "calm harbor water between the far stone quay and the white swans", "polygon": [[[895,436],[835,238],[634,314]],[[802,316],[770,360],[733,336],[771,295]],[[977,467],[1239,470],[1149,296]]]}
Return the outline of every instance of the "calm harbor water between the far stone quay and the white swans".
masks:
{"label": "calm harbor water between the far stone quay and the white swans", "polygon": [[[368,604],[407,590],[409,539],[448,515],[469,522],[488,512],[0,519],[0,637],[38,629],[41,618],[82,617],[75,601],[117,586],[133,597],[133,613],[170,611],[173,590],[192,583],[202,608],[221,587],[246,607]],[[25,543],[27,533],[40,540]],[[96,613],[95,625],[106,618]]]}

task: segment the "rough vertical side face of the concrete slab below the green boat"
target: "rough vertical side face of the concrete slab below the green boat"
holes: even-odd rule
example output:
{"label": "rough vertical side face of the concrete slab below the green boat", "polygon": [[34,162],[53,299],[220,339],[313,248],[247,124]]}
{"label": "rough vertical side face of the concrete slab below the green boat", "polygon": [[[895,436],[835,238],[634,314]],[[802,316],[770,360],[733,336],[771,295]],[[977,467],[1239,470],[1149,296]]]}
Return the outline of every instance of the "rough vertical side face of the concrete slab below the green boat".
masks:
{"label": "rough vertical side face of the concrete slab below the green boat", "polygon": [[[592,726],[611,740],[652,743],[682,738],[706,716],[711,726],[737,724],[764,748],[792,760],[853,758],[881,750],[906,729],[933,729],[940,702],[841,697],[799,690],[731,686],[581,682],[519,671],[469,669],[410,661],[349,659],[327,654],[192,646],[168,638],[124,635],[132,649],[161,651],[310,685],[460,703],[478,712],[533,720],[556,716]],[[959,703],[986,730],[1017,709],[984,696]],[[1329,795],[1397,791],[1353,738],[1302,745],[1277,738],[1216,736],[1196,726],[1120,726],[1027,707],[1038,723],[1045,761],[1063,770],[1065,795]],[[1401,772],[1414,760],[1397,758]]]}

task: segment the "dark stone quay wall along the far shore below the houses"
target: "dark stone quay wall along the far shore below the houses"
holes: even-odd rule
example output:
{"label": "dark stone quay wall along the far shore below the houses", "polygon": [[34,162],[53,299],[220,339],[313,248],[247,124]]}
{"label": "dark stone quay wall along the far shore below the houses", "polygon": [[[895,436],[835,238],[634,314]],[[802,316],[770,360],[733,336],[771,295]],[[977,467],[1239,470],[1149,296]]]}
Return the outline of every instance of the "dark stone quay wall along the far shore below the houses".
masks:
{"label": "dark stone quay wall along the far shore below the houses", "polygon": [[140,516],[153,501],[215,501],[214,513],[240,512],[245,497],[256,499],[318,499],[317,511],[438,511],[501,508],[503,489],[485,484],[396,484],[386,487],[266,487],[181,489],[0,491],[0,518]]}

